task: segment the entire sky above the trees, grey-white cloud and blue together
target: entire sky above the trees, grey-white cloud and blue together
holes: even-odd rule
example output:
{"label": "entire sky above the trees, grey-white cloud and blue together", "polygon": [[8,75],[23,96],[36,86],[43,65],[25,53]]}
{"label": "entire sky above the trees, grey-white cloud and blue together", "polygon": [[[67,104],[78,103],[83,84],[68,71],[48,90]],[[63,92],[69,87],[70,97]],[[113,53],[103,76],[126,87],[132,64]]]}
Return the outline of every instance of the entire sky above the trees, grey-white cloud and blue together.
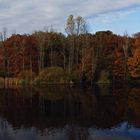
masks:
{"label": "entire sky above the trees, grey-white cloud and blue together", "polygon": [[86,19],[90,32],[140,32],[140,0],[0,0],[0,31],[32,33],[53,26],[64,32],[68,15]]}

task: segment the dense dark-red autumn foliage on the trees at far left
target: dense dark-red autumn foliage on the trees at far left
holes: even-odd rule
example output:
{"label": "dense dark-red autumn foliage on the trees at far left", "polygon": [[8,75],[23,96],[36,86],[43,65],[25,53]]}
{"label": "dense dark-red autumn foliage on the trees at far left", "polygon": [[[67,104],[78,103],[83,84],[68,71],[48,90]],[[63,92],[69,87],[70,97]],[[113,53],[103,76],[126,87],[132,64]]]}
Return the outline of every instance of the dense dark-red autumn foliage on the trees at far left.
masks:
{"label": "dense dark-red autumn foliage on the trees at far left", "polygon": [[13,35],[5,41],[7,71],[17,75],[24,70],[38,71],[38,51],[32,36]]}

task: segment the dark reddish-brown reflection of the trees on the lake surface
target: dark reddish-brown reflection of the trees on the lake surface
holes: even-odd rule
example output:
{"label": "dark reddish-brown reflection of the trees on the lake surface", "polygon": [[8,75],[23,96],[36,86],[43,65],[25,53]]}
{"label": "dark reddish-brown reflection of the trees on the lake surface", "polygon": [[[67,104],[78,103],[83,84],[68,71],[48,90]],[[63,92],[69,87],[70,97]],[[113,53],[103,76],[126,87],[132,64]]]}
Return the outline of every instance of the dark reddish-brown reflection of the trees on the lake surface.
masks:
{"label": "dark reddish-brown reflection of the trees on the lake surface", "polygon": [[[101,91],[103,90],[99,90]],[[42,135],[45,128],[53,133],[54,128],[64,127],[66,124],[110,128],[124,118],[127,119],[129,108],[134,110],[138,118],[139,102],[135,103],[135,98],[126,98],[124,89],[115,89],[113,92],[95,96],[95,91],[91,92],[90,89],[54,86],[41,89],[0,89],[0,93],[3,93],[0,94],[0,116],[11,123],[12,127],[33,126]],[[135,120],[135,116],[132,119]],[[78,130],[78,133],[84,132]]]}

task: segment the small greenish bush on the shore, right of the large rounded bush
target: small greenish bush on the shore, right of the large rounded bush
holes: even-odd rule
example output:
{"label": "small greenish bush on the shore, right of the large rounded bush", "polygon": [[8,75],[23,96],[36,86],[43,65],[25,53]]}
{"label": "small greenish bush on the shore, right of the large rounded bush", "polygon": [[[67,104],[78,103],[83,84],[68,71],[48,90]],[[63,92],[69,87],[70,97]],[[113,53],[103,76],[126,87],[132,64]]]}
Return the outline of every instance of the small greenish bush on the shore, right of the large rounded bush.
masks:
{"label": "small greenish bush on the shore, right of the large rounded bush", "polygon": [[107,71],[101,71],[98,84],[110,84],[109,73]]}

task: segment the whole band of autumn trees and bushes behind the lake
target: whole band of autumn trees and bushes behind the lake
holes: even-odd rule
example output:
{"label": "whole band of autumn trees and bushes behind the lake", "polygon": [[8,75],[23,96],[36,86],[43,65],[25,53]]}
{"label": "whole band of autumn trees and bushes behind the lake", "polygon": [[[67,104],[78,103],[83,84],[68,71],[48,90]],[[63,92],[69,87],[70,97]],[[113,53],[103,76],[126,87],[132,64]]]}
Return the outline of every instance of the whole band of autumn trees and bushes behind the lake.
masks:
{"label": "whole band of autumn trees and bushes behind the lake", "polygon": [[53,30],[9,38],[1,33],[0,75],[25,78],[29,74],[47,82],[91,84],[140,78],[140,33],[132,37],[111,31],[91,34],[82,18],[79,25],[77,18],[69,18],[67,36]]}

